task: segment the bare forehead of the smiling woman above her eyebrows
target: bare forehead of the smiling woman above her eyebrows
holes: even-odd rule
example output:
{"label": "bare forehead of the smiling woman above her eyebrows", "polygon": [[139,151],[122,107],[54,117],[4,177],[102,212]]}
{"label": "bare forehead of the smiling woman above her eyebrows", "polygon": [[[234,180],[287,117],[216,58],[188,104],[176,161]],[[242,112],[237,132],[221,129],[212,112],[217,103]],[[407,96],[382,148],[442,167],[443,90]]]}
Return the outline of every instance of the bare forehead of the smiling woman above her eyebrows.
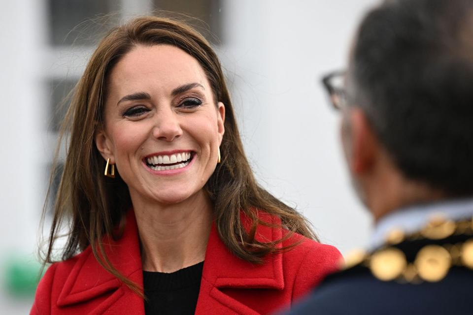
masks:
{"label": "bare forehead of the smiling woman above her eyebrows", "polygon": [[111,70],[110,92],[119,94],[152,90],[172,90],[186,83],[209,85],[198,61],[171,45],[137,46]]}

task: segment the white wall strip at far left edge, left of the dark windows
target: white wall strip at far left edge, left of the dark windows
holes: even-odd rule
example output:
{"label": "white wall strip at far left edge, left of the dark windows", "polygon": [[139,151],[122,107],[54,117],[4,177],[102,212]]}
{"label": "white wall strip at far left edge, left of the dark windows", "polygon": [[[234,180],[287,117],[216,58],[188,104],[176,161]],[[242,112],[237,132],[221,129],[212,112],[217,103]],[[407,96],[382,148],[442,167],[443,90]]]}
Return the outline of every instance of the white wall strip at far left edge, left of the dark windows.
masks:
{"label": "white wall strip at far left edge, left of the dark windows", "polygon": [[5,263],[34,259],[42,205],[44,103],[38,71],[40,1],[2,1],[0,10],[0,309],[27,314],[29,301],[4,293]]}

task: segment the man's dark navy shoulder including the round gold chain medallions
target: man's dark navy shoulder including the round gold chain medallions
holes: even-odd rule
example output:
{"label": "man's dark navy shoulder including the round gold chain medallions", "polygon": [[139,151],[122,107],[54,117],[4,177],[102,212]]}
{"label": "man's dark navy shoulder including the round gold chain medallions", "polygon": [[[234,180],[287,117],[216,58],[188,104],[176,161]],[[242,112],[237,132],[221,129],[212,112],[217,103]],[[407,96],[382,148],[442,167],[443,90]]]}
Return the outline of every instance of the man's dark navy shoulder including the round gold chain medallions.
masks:
{"label": "man's dark navy shoulder including the round gold chain medallions", "polygon": [[469,239],[417,238],[377,249],[326,277],[291,314],[468,314],[473,270],[454,256],[452,244],[460,248]]}

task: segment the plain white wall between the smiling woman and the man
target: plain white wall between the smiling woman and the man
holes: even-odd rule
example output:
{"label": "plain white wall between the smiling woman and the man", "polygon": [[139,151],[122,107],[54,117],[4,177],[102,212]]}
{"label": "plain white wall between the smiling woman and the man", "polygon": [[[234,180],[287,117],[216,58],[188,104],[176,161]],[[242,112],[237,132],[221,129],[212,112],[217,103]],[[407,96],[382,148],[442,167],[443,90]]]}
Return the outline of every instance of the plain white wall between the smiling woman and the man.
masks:
{"label": "plain white wall between the smiling woman and the man", "polygon": [[258,178],[343,253],[366,244],[371,221],[352,192],[338,113],[320,77],[345,67],[356,25],[373,3],[229,0],[222,8],[228,42],[220,55]]}

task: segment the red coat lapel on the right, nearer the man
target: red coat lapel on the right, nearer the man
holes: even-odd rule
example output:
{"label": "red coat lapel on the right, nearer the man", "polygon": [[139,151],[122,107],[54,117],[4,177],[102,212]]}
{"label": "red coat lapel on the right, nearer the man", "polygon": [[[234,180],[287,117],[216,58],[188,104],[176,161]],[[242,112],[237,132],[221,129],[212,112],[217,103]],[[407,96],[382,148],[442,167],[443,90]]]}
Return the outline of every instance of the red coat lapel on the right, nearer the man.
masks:
{"label": "red coat lapel on the right, nearer the man", "polygon": [[[259,215],[270,224],[280,224],[278,219]],[[259,225],[256,239],[270,242],[281,239],[280,228]],[[280,245],[279,245],[280,247]],[[254,264],[236,257],[218,236],[212,225],[205,253],[203,275],[196,314],[258,314],[246,305],[231,298],[221,289],[284,289],[282,254],[267,255],[265,263]]]}

